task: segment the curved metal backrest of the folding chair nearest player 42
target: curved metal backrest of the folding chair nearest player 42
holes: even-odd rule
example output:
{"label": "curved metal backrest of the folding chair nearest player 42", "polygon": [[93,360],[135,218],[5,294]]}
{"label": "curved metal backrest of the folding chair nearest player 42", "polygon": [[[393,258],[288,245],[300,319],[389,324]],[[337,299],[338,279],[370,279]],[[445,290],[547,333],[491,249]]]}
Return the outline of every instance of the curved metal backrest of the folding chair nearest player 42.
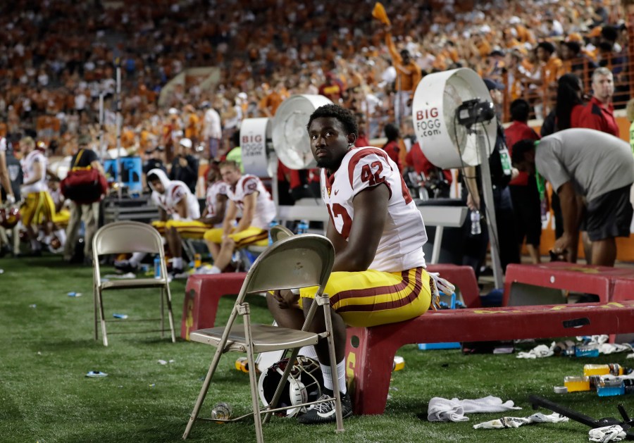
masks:
{"label": "curved metal backrest of the folding chair nearest player 42", "polygon": [[257,258],[244,280],[236,304],[249,292],[318,286],[325,288],[335,248],[323,235],[304,234],[280,239]]}

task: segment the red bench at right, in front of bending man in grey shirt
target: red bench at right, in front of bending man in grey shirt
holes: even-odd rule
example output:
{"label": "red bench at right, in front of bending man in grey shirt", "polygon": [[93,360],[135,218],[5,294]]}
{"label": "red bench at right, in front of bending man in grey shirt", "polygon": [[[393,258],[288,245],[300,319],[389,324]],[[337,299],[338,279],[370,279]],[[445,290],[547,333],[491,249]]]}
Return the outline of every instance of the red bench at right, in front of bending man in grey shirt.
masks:
{"label": "red bench at right, in front of bending man in grey shirt", "polygon": [[599,301],[612,299],[614,282],[634,277],[634,270],[555,261],[538,265],[506,266],[502,306],[565,303],[561,290],[596,294]]}

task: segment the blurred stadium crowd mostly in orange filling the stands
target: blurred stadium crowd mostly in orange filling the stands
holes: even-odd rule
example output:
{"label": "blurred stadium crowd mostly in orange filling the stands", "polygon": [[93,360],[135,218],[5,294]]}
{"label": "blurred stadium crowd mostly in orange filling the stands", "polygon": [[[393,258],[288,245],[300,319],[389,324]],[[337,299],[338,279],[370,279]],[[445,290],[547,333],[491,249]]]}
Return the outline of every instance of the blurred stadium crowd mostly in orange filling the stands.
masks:
{"label": "blurred stadium crowd mostly in orange filling the stands", "polygon": [[[554,111],[564,74],[577,75],[590,94],[599,66],[614,76],[614,99],[629,98],[628,87],[619,87],[629,68],[617,1],[426,0],[413,6],[399,0],[387,5],[391,26],[372,18],[373,5],[23,0],[2,6],[0,136],[18,158],[34,140],[51,157],[76,154],[85,136],[94,151],[116,147],[118,67],[120,144],[167,170],[189,167],[189,160],[179,166],[175,159],[182,149],[195,161],[224,159],[239,145],[235,133],[243,118],[273,116],[292,94],[323,94],[350,109],[361,144],[387,137],[390,157],[411,170],[416,161],[406,154],[420,147],[400,106],[411,104],[421,77],[458,67],[500,85],[490,89],[503,90],[499,111],[506,120],[516,99],[526,99],[530,116]],[[410,63],[418,70],[408,83],[404,66]],[[184,83],[166,87],[187,68],[202,66],[218,68],[217,78],[186,75]],[[292,171],[282,170],[278,180],[292,187]]]}

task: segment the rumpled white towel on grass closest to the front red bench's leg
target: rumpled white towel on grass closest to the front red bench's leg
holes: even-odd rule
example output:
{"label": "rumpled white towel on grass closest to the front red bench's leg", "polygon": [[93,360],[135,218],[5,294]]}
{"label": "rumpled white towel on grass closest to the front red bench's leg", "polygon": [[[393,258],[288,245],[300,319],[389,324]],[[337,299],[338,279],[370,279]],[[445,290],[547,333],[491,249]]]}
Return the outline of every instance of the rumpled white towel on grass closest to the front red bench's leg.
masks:
{"label": "rumpled white towel on grass closest to the front red bench's leg", "polygon": [[521,409],[512,400],[502,402],[498,397],[484,397],[475,400],[442,399],[434,397],[429,401],[427,419],[429,421],[468,421],[464,414],[474,412],[504,412]]}

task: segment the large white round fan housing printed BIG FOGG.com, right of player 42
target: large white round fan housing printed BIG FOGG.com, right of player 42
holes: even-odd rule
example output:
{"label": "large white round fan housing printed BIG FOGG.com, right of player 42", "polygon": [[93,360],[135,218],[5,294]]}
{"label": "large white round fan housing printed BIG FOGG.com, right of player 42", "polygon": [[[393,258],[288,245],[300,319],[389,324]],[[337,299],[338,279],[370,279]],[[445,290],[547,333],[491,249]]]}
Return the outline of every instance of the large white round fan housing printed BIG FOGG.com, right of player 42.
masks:
{"label": "large white round fan housing printed BIG FOGG.com, right of player 42", "polygon": [[[475,133],[469,133],[456,120],[456,109],[471,99],[491,101],[485,82],[468,68],[425,75],[416,87],[411,111],[416,139],[425,156],[438,168],[477,166],[482,162]],[[497,137],[495,118],[476,123],[473,129],[484,131],[490,156]]]}

